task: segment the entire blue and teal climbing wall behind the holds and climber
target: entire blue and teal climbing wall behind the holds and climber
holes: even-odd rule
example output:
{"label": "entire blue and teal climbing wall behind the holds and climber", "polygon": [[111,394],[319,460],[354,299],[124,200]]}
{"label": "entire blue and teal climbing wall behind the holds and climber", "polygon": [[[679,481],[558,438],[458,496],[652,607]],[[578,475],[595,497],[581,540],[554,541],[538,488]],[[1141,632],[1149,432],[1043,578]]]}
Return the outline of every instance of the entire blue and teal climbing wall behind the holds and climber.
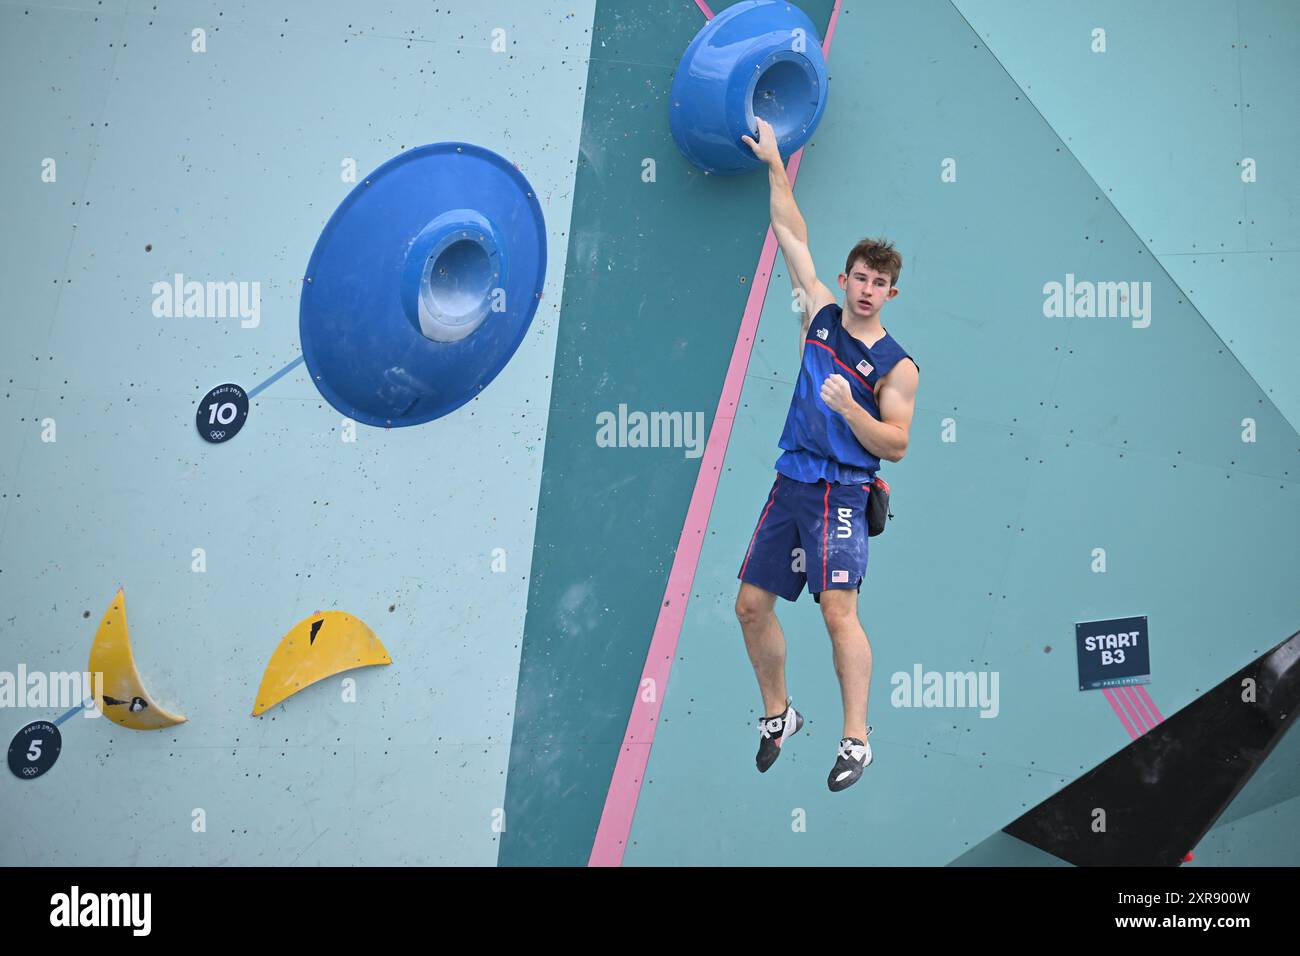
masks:
{"label": "entire blue and teal climbing wall behind the holds and climber", "polygon": [[[798,325],[764,177],[703,174],[668,127],[728,5],[0,5],[0,682],[83,670],[121,587],[143,685],[187,718],[0,693],[6,743],[65,717],[44,777],[0,780],[0,862],[1062,865],[1006,829],[1295,633],[1294,5],[802,0],[829,65],[811,251],[829,280],[894,241],[884,324],[923,371],[861,598],[875,763],[826,790],[840,696],[803,597],[777,613],[810,721],[754,771],[732,604]],[[537,316],[455,412],[350,428],[300,360],[308,258],[358,178],[451,139],[536,189]],[[1067,276],[1138,284],[1149,323],[1046,316]],[[177,281],[256,307],[160,315]],[[224,382],[250,414],[208,445]],[[681,441],[627,441],[655,412]],[[325,610],[393,662],[252,717]],[[1080,691],[1075,623],[1130,615],[1150,683]],[[996,705],[904,706],[915,669],[997,675]],[[1270,741],[1197,864],[1296,862],[1297,743]]]}

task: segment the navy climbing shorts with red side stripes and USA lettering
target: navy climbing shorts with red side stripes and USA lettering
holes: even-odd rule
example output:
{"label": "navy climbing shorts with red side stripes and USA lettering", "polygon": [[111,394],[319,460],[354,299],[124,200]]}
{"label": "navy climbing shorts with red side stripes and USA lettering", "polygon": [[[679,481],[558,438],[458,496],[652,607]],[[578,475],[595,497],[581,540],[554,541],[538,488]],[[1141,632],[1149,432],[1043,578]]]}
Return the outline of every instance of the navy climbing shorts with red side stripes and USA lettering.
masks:
{"label": "navy climbing shorts with red side stripes and USA lettering", "polygon": [[862,588],[867,572],[867,485],[796,481],[777,475],[737,575],[794,601]]}

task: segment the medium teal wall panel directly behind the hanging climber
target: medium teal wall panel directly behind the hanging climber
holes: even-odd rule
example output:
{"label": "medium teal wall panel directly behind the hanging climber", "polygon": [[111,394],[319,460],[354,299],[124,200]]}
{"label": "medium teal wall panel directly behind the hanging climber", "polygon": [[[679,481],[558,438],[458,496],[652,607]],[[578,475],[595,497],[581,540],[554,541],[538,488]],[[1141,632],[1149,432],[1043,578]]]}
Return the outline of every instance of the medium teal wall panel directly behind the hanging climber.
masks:
{"label": "medium teal wall panel directly behind the hanging climber", "polygon": [[[760,701],[731,602],[797,368],[777,274],[629,864],[770,861],[774,845],[798,862],[948,862],[1128,743],[1100,693],[1078,689],[1075,622],[1148,615],[1149,689],[1167,715],[1300,617],[1286,419],[952,5],[892,8],[889,44],[859,10],[841,17],[831,103],[796,195],[823,277],[862,235],[898,245],[901,294],[883,321],[922,369],[909,454],[881,470],[897,518],[872,538],[859,602],[875,763],[853,790],[826,791],[840,695],[820,614],[802,598],[777,614],[807,736],[766,775],[753,770]],[[883,104],[871,78],[915,77],[922,49],[923,75]],[[958,174],[944,183],[949,156]],[[1149,328],[1046,317],[1044,284],[1067,273],[1149,282]],[[1243,418],[1257,442],[1242,441]],[[1097,548],[1105,574],[1092,570]],[[997,715],[896,706],[892,676],[916,665],[996,672]],[[805,832],[790,830],[798,808]]]}

